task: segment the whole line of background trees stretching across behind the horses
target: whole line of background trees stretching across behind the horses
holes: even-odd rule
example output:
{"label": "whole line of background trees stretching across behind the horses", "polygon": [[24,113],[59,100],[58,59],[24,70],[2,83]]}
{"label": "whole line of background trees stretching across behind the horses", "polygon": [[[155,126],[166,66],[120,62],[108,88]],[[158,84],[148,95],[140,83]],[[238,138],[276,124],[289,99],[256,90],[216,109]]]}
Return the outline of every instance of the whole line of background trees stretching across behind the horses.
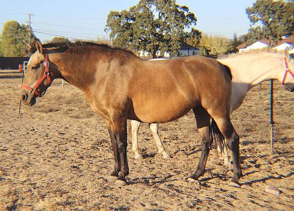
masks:
{"label": "whole line of background trees stretching across behind the horses", "polygon": [[[213,36],[196,29],[197,18],[187,6],[175,0],[140,0],[128,10],[111,11],[105,31],[116,47],[176,54],[183,42],[198,46],[201,54],[218,55],[234,52],[241,43],[252,44],[266,38],[274,45],[283,36],[294,33],[294,0],[256,0],[245,8],[250,21],[248,33],[233,39]],[[7,21],[0,39],[0,56],[25,56],[28,32],[30,42],[36,37],[28,25]],[[54,38],[53,42],[69,41]]]}

